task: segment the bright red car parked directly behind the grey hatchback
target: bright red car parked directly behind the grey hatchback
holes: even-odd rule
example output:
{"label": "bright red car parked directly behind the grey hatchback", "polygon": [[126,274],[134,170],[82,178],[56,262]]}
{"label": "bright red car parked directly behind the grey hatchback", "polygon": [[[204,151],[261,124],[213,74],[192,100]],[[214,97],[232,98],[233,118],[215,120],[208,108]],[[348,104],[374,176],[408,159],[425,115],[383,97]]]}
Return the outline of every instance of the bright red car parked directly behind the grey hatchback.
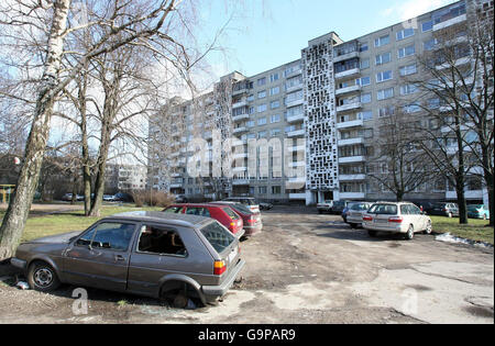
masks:
{"label": "bright red car parked directly behind the grey hatchback", "polygon": [[211,217],[220,222],[232,234],[244,228],[242,217],[228,205],[180,203],[166,208],[164,212]]}

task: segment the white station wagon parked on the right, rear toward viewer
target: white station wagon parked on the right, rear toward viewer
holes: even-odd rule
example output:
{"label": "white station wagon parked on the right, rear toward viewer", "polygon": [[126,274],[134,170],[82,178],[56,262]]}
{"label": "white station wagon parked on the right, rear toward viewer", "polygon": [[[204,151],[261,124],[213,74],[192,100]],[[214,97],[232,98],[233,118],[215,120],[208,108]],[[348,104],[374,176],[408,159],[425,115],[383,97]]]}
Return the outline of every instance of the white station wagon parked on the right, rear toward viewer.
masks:
{"label": "white station wagon parked on the right, rear toward viewer", "polygon": [[370,236],[377,232],[403,233],[413,239],[415,233],[431,234],[431,219],[409,202],[378,202],[363,215],[363,227]]}

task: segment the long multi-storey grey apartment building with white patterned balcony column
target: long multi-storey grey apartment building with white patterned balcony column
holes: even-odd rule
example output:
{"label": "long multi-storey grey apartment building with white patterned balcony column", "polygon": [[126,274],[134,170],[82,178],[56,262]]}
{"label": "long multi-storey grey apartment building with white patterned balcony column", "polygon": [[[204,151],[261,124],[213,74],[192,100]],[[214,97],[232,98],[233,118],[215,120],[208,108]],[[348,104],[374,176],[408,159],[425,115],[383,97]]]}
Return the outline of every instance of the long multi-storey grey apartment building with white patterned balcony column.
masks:
{"label": "long multi-storey grey apartment building with white patterned balcony column", "polygon": [[[367,175],[381,119],[399,103],[420,119],[416,88],[405,78],[420,75],[417,58],[435,49],[435,33],[463,27],[475,8],[493,12],[493,1],[459,1],[348,42],[331,32],[309,41],[298,60],[251,77],[232,72],[210,93],[170,100],[150,125],[150,182],[211,199],[393,199]],[[209,176],[191,175],[191,167]],[[470,179],[468,198],[486,202],[482,183]],[[408,198],[455,196],[431,181]]]}

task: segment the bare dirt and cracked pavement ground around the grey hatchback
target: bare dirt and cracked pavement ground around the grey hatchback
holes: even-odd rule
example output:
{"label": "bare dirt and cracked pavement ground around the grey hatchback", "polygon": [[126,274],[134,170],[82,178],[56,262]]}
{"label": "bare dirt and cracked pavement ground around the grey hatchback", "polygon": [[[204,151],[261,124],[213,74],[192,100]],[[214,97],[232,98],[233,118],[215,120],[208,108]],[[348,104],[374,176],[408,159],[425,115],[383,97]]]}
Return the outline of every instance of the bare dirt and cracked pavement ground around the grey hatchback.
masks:
{"label": "bare dirt and cracked pavement ground around the grey hatchback", "polygon": [[276,208],[263,221],[242,243],[244,280],[218,306],[176,310],[88,289],[87,314],[77,315],[75,287],[22,291],[3,266],[0,323],[494,323],[493,248],[422,234],[370,238],[305,208]]}

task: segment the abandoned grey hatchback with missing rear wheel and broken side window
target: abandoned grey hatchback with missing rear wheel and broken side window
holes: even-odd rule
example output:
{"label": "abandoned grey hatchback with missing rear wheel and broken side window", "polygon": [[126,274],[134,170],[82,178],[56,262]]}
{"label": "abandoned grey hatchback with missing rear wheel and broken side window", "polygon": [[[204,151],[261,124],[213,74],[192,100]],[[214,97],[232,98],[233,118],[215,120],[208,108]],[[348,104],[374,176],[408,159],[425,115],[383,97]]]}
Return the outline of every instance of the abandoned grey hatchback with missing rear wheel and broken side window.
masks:
{"label": "abandoned grey hatchback with missing rear wheel and broken side window", "polygon": [[245,265],[239,237],[217,221],[161,212],[118,214],[80,234],[23,243],[11,263],[40,291],[65,282],[174,298],[178,306],[186,298],[215,302]]}

